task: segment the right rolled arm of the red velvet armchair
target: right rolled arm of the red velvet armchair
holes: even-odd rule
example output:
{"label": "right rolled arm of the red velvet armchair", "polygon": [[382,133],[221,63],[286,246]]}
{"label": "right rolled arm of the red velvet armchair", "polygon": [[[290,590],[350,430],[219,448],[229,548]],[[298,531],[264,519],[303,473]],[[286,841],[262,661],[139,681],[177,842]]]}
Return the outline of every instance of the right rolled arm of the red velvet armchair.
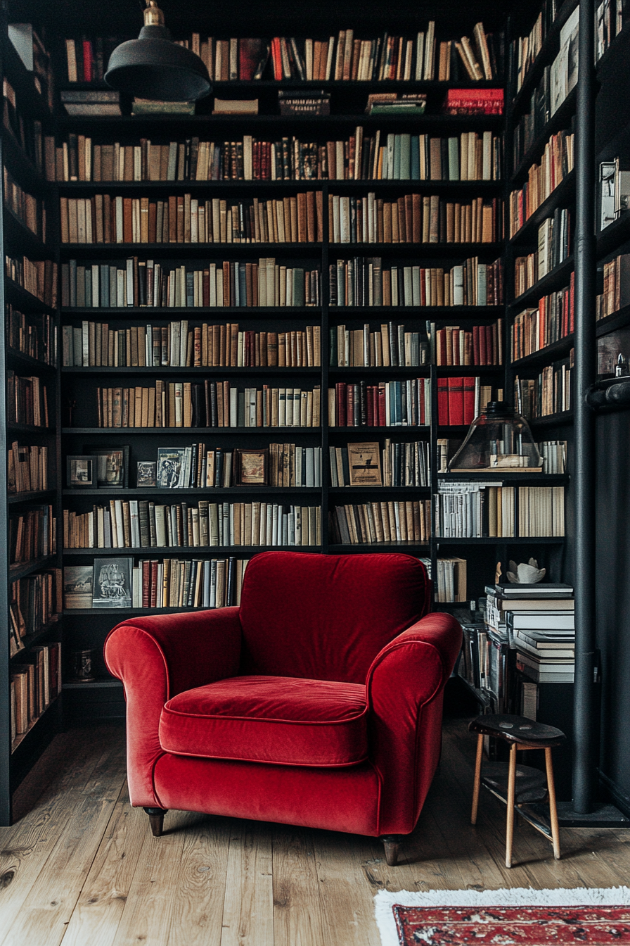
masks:
{"label": "right rolled arm of the red velvet armchair", "polygon": [[439,761],[442,694],[462,643],[450,614],[391,640],[366,680],[370,761],[381,778],[380,832],[413,831]]}

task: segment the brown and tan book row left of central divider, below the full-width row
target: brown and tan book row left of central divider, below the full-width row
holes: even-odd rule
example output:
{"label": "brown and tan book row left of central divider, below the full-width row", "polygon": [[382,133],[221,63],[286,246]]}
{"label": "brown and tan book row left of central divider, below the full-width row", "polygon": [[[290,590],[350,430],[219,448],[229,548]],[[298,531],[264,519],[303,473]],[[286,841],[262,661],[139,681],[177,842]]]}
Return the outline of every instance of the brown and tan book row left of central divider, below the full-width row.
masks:
{"label": "brown and tan book row left of central divider, below the full-width row", "polygon": [[271,201],[61,197],[61,242],[315,243],[323,233],[321,198],[319,190]]}

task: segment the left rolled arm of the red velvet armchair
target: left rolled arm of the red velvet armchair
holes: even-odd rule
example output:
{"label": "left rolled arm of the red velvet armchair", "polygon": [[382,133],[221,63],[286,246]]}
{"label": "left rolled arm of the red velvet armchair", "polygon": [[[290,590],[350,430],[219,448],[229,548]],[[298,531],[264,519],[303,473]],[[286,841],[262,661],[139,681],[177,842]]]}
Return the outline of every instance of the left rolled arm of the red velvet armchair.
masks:
{"label": "left rolled arm of the red velvet armchair", "polygon": [[153,766],[164,703],[184,690],[238,673],[238,607],[147,615],[117,624],[105,641],[105,662],[123,681],[127,700],[128,785],[132,805],[160,805]]}

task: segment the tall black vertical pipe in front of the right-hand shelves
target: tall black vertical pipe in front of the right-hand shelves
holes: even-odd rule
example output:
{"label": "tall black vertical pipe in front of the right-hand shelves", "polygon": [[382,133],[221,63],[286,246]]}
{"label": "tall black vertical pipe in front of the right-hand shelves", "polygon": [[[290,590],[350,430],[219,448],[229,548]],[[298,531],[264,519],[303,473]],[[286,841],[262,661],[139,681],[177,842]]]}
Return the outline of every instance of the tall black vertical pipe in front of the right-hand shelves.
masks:
{"label": "tall black vertical pipe in front of the right-hand shelves", "polygon": [[580,0],[575,118],[575,684],[573,809],[592,809],[594,788],[595,462],[594,416],[585,395],[595,380],[594,13]]}

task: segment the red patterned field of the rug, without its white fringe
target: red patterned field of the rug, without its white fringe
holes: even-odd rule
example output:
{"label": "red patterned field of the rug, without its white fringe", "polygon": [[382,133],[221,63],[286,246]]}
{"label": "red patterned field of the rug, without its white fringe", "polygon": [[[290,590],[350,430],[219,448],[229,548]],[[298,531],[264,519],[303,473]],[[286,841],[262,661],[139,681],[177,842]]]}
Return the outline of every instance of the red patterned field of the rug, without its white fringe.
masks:
{"label": "red patterned field of the rug, without its white fringe", "polygon": [[630,943],[630,907],[393,907],[400,946]]}

